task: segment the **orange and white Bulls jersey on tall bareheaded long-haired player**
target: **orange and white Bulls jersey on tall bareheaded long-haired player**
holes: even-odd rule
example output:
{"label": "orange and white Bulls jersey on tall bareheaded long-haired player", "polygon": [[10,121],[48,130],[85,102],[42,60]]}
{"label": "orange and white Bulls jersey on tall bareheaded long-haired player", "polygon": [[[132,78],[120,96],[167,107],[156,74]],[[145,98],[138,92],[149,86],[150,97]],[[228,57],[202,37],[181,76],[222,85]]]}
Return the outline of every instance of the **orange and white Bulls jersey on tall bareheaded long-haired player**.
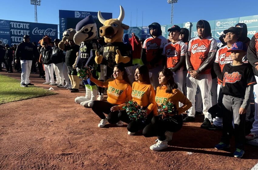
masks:
{"label": "orange and white Bulls jersey on tall bareheaded long-haired player", "polygon": [[[211,36],[203,39],[196,37],[189,41],[188,51],[191,52],[190,62],[194,70],[198,70],[208,58],[208,53],[217,51],[217,42]],[[201,74],[209,73],[211,73],[211,68],[207,68]]]}

